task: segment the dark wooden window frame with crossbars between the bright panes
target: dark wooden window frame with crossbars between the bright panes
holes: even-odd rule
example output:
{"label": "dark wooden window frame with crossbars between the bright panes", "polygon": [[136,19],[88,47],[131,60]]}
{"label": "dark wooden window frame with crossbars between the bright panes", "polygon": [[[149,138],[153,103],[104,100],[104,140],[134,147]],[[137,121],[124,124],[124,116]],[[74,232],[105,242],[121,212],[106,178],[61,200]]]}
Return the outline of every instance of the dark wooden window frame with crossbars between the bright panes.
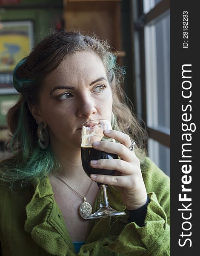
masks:
{"label": "dark wooden window frame with crossbars between the bright panes", "polygon": [[[147,112],[146,112],[146,72],[145,72],[145,41],[144,41],[144,27],[147,23],[153,22],[156,18],[163,15],[166,11],[170,9],[170,0],[162,0],[154,6],[146,14],[143,13],[143,0],[132,0],[132,10],[134,11],[134,17],[132,20],[133,23],[133,30],[132,30],[132,38],[135,38],[135,34],[137,33],[137,45],[139,47],[139,56],[140,56],[140,84],[141,84],[141,91],[140,91],[140,100],[138,100],[137,93],[134,94],[134,102],[136,102],[136,110],[137,114],[140,112],[140,116],[147,124]],[[133,46],[135,46],[135,42],[133,41]],[[134,56],[135,58],[135,56]],[[134,67],[136,66],[134,60]],[[135,72],[135,71],[134,71]],[[134,91],[136,91],[136,80],[134,76]],[[149,138],[156,140],[157,142],[167,146],[170,148],[170,133],[166,131],[160,131],[157,128],[152,128],[146,126],[146,130],[148,132]]]}

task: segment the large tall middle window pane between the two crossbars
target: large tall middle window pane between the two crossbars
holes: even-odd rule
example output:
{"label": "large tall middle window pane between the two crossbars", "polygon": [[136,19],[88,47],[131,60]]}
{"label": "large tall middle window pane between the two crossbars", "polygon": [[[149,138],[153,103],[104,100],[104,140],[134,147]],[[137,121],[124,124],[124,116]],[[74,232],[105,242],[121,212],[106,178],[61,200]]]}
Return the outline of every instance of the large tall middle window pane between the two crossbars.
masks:
{"label": "large tall middle window pane between the two crossbars", "polygon": [[170,129],[170,12],[147,24],[145,71],[147,125],[163,131]]}

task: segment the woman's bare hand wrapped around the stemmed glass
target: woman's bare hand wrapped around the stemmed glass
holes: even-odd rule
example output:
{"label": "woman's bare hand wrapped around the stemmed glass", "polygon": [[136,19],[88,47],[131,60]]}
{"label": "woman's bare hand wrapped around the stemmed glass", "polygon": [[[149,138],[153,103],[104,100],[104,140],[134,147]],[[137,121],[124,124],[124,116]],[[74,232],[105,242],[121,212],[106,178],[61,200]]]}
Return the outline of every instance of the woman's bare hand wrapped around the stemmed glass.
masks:
{"label": "woman's bare hand wrapped around the stemmed glass", "polygon": [[93,148],[117,154],[121,159],[100,159],[91,161],[90,165],[93,168],[117,170],[121,175],[91,175],[91,179],[119,188],[123,203],[127,209],[138,209],[146,204],[147,193],[140,170],[140,161],[134,151],[128,149],[131,145],[131,139],[129,135],[115,130],[105,130],[104,134],[106,137],[114,138],[120,143],[110,141],[94,142],[92,144]]}

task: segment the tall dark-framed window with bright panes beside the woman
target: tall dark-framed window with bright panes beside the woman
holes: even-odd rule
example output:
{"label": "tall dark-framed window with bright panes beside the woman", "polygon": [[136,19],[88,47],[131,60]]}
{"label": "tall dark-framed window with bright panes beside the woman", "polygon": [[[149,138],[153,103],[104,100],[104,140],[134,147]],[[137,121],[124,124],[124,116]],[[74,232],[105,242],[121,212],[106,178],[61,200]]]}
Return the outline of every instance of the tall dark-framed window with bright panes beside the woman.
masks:
{"label": "tall dark-framed window with bright panes beside the woman", "polygon": [[137,114],[149,157],[170,176],[170,1],[133,0]]}

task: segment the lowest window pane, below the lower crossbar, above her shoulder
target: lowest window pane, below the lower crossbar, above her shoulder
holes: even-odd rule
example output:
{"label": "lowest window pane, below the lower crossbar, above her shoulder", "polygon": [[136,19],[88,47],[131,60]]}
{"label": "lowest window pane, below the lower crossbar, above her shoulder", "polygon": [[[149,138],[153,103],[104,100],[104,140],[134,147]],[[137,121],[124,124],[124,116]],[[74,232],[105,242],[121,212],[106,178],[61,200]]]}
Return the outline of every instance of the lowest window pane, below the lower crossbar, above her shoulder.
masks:
{"label": "lowest window pane, below the lower crossbar, above her shoulder", "polygon": [[170,177],[170,149],[149,138],[148,152],[151,160]]}

